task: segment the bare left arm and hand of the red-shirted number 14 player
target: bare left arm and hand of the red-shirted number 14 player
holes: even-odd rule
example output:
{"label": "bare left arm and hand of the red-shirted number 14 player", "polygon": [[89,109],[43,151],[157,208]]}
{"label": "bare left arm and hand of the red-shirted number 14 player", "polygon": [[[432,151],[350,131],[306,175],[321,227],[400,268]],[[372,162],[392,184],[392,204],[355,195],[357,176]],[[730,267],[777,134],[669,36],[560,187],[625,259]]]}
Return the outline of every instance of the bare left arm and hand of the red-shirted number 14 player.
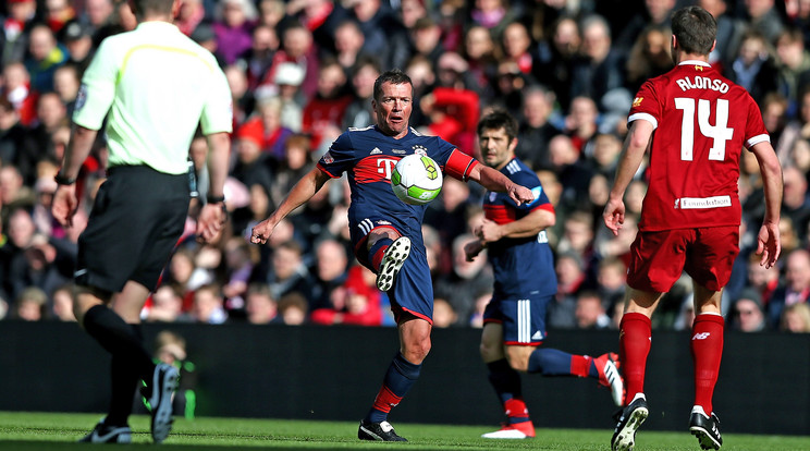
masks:
{"label": "bare left arm and hand of the red-shirted number 14 player", "polygon": [[618,236],[618,230],[622,229],[622,224],[624,223],[624,193],[641,166],[641,159],[645,157],[647,147],[650,144],[652,131],[653,126],[649,121],[633,121],[630,130],[627,133],[627,138],[625,138],[622,157],[616,167],[613,188],[611,188],[608,204],[604,206],[604,211],[602,212],[604,224],[616,236]]}

